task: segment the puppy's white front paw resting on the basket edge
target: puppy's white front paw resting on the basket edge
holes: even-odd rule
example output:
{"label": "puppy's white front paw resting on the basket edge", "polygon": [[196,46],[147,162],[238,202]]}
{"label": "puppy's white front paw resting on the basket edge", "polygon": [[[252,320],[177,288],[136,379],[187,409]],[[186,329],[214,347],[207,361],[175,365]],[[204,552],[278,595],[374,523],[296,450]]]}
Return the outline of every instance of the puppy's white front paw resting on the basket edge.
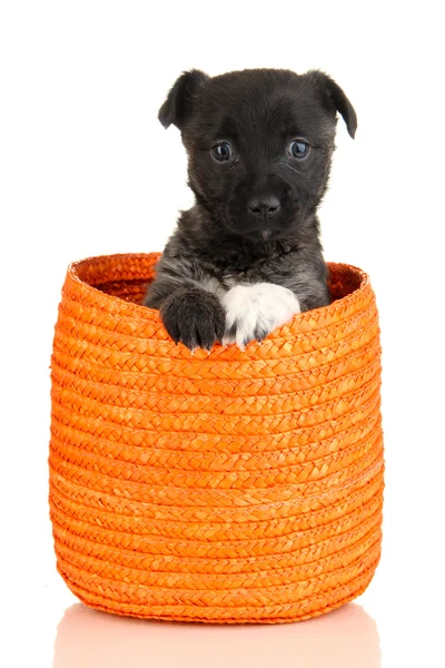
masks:
{"label": "puppy's white front paw resting on the basket edge", "polygon": [[226,311],[222,343],[236,343],[241,350],[249,341],[263,341],[300,312],[294,293],[274,283],[236,285],[221,297],[221,302]]}

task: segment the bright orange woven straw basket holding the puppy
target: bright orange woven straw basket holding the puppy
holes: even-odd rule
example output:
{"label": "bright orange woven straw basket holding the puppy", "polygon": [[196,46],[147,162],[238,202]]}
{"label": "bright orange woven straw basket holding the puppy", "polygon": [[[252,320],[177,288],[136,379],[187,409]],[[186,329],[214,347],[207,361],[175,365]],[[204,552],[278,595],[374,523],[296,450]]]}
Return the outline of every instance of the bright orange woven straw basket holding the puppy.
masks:
{"label": "bright orange woven straw basket holding the puppy", "polygon": [[375,296],[330,264],[327,307],[245,352],[169,340],[140,306],[159,254],[72,264],[56,325],[50,510],[87,605],[156,619],[307,619],[380,553]]}

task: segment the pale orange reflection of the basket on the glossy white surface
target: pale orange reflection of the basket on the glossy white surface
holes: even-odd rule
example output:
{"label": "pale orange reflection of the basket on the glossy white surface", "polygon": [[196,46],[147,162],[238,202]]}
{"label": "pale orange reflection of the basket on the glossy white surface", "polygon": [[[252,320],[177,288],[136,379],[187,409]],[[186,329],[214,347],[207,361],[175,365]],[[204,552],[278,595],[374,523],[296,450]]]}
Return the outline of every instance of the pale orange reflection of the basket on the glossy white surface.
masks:
{"label": "pale orange reflection of the basket on the glossy white surface", "polygon": [[77,603],[53,668],[379,668],[375,621],[357,605],[299,623],[192,625],[129,619]]}

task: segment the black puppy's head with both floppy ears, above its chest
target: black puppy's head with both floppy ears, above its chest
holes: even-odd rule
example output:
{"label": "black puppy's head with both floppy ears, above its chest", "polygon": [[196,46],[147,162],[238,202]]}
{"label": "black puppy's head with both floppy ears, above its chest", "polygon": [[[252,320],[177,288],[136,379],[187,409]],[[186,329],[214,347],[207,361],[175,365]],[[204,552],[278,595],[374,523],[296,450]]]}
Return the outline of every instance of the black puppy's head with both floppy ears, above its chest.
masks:
{"label": "black puppy's head with both floppy ears, above its chest", "polygon": [[227,234],[285,238],[326,190],[337,111],[354,137],[357,117],[320,71],[257,69],[182,73],[159,110],[176,125],[197,202]]}

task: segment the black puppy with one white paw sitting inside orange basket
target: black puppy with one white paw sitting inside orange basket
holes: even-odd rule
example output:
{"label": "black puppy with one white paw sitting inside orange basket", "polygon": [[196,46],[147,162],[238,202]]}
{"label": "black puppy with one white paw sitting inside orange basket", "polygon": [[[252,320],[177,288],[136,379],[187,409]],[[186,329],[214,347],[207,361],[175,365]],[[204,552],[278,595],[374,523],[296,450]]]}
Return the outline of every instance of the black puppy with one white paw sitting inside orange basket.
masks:
{"label": "black puppy with one white paw sitting inside orange basket", "polygon": [[354,137],[349,100],[320,71],[185,72],[159,110],[188,153],[196,205],[182,212],[145,305],[175,342],[244,347],[294,313],[329,304],[317,207],[336,114]]}

